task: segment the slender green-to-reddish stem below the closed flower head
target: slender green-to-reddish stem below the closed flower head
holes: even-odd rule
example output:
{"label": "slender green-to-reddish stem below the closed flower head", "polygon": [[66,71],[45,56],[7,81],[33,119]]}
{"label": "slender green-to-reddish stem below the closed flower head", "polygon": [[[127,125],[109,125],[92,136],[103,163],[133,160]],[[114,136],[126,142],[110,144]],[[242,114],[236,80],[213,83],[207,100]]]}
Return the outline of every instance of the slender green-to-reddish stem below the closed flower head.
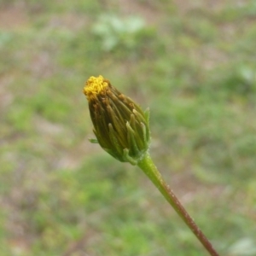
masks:
{"label": "slender green-to-reddish stem below the closed flower head", "polygon": [[154,166],[153,160],[151,160],[150,155],[147,153],[142,160],[139,161],[138,165],[143,172],[150,178],[160,193],[165,196],[166,200],[174,208],[177,214],[183,219],[183,222],[189,226],[189,229],[195,234],[201,244],[207,249],[208,253],[212,256],[218,256],[218,253],[212,247],[210,241],[202,233],[199,227],[195,224],[195,221],[189,216],[189,213],[184,209],[180,201],[178,201],[177,196],[174,195],[172,189],[165,183],[160,175],[160,172]]}

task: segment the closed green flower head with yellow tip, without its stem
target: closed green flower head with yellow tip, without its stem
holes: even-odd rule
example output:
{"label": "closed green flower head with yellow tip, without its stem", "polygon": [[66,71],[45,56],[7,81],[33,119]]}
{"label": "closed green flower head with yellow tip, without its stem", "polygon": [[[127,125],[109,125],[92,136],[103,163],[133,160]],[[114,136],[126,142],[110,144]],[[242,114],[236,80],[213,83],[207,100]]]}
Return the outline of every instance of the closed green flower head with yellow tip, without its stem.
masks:
{"label": "closed green flower head with yellow tip, without its stem", "polygon": [[137,165],[148,151],[148,110],[143,110],[102,76],[84,86],[96,142],[117,160]]}

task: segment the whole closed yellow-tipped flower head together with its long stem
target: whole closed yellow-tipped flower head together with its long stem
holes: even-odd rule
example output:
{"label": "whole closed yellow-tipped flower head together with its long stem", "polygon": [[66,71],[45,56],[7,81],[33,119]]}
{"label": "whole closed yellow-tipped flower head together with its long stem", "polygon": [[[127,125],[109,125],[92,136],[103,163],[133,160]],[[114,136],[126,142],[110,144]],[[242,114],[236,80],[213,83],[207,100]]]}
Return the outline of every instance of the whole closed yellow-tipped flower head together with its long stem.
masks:
{"label": "whole closed yellow-tipped flower head together with its long stem", "polygon": [[211,242],[161,177],[150,157],[148,111],[143,112],[135,102],[121,94],[102,76],[88,79],[84,86],[84,95],[89,102],[90,118],[97,138],[93,142],[99,143],[117,160],[130,162],[141,168],[208,253],[218,256]]}

